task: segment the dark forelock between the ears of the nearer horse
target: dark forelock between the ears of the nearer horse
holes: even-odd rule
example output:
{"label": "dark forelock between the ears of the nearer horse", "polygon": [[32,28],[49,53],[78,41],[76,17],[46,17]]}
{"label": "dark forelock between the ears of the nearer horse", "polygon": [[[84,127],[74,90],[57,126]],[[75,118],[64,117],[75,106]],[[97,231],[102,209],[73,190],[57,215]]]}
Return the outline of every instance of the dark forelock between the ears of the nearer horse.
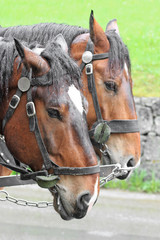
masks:
{"label": "dark forelock between the ears of the nearer horse", "polygon": [[72,84],[78,88],[82,86],[78,65],[61,49],[59,44],[54,41],[49,42],[40,56],[47,60],[50,71],[42,77],[32,79],[32,85],[45,86],[53,84],[57,90],[64,85],[64,82],[68,86]]}

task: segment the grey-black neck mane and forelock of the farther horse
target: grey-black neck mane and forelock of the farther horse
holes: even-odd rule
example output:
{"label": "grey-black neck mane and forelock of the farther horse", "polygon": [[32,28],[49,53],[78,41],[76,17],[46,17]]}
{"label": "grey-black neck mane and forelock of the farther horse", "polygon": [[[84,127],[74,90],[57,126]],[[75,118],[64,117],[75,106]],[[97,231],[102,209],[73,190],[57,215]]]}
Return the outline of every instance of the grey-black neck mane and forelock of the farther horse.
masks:
{"label": "grey-black neck mane and forelock of the farther horse", "polygon": [[[38,44],[46,45],[47,42],[51,41],[57,34],[61,33],[68,47],[70,47],[76,36],[88,32],[89,30],[82,27],[56,23],[40,23],[31,26],[0,28],[0,36],[13,36],[26,41],[28,44],[36,41]],[[107,31],[106,37],[110,43],[109,71],[111,76],[115,77],[119,74],[119,71],[124,68],[124,63],[127,64],[128,70],[131,72],[129,52],[122,39],[114,30]]]}

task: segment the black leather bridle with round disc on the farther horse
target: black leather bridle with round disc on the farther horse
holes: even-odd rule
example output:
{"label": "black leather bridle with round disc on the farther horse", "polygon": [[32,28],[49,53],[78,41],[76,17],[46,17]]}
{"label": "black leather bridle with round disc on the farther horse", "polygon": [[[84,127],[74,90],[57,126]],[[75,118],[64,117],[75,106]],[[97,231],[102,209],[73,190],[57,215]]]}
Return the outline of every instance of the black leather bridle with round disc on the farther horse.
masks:
{"label": "black leather bridle with round disc on the farther horse", "polygon": [[97,117],[97,121],[93,124],[89,135],[93,145],[100,150],[105,145],[110,134],[112,133],[135,133],[139,132],[138,120],[120,120],[114,119],[111,121],[104,120],[102,118],[101,109],[98,102],[95,79],[93,73],[93,61],[103,60],[109,58],[109,52],[94,54],[94,44],[91,39],[88,40],[86,51],[82,55],[82,63],[80,65],[81,72],[85,68],[87,75],[88,89],[92,95],[94,109]]}

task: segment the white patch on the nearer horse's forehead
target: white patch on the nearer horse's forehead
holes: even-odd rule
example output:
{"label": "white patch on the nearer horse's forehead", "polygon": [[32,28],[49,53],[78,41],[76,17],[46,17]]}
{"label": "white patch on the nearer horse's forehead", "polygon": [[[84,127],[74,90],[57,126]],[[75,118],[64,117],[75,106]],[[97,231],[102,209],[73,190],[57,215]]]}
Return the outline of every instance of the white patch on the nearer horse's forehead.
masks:
{"label": "white patch on the nearer horse's forehead", "polygon": [[69,87],[68,95],[78,111],[82,114],[83,113],[83,104],[82,104],[82,97],[80,91],[72,84]]}

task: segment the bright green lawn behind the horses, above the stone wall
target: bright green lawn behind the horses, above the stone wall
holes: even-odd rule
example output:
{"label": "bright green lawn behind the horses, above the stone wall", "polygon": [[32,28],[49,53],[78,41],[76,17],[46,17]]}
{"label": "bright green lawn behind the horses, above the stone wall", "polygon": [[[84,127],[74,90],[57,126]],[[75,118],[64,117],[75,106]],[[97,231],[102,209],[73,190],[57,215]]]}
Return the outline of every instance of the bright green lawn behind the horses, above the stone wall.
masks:
{"label": "bright green lawn behind the horses, above the stone wall", "polygon": [[103,29],[117,18],[130,51],[134,95],[159,97],[160,0],[0,0],[0,24],[57,22],[88,28],[91,9]]}

